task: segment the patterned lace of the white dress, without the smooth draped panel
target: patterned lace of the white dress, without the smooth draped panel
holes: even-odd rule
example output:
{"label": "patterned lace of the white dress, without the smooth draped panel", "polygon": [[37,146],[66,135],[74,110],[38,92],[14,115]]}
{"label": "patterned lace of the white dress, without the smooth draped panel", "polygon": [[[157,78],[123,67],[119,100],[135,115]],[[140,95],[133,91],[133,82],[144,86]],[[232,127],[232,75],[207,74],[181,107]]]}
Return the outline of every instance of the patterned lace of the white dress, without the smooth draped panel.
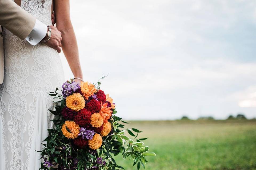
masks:
{"label": "patterned lace of the white dress, without the smooth draped panel", "polygon": [[[24,10],[46,25],[51,25],[51,4],[52,0],[21,1],[21,7]],[[43,43],[32,47],[8,30],[5,32],[4,40],[9,44],[5,54],[11,62],[6,68],[6,78],[9,77],[10,82],[0,85],[0,96],[3,93],[10,95],[9,101],[2,101],[0,98],[0,121],[3,125],[2,136],[6,170],[27,170],[34,133],[37,96],[43,92],[46,108],[53,108],[52,99],[47,95],[47,92],[52,91],[53,87],[55,89],[55,86],[59,86],[63,81],[63,69],[58,52]],[[30,97],[30,95],[32,99],[26,99],[26,96]],[[10,119],[5,120],[4,113],[10,114]],[[49,111],[47,116],[48,128],[52,128],[53,122],[49,120],[53,117]],[[11,134],[10,144],[6,139],[7,131]],[[23,139],[25,136],[28,138]],[[24,143],[26,144],[24,145]],[[11,155],[9,161],[7,154]]]}

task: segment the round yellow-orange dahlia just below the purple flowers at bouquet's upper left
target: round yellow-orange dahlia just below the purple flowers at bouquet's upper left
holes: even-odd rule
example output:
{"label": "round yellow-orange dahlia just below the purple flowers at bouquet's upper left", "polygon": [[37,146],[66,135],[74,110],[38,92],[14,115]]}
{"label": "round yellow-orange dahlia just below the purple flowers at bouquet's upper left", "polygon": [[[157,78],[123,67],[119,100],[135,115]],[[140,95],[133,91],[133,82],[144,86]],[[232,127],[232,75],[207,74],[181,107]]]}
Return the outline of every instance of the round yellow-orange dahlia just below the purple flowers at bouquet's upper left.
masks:
{"label": "round yellow-orange dahlia just below the purple flowers at bouquet's upper left", "polygon": [[75,93],[71,96],[67,96],[66,105],[71,110],[78,112],[85,107],[85,99],[81,94]]}

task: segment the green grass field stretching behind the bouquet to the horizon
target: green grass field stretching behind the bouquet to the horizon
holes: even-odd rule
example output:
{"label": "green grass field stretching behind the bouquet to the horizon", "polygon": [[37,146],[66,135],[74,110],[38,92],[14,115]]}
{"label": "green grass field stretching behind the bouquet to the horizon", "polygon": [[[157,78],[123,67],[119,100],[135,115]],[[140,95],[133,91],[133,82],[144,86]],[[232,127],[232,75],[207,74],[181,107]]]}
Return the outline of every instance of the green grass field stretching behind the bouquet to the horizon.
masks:
{"label": "green grass field stretching behind the bouquet to the horizon", "polygon": [[[136,121],[126,124],[149,137],[146,170],[256,170],[256,120]],[[116,162],[135,170],[132,160]],[[143,169],[143,168],[142,168]]]}

